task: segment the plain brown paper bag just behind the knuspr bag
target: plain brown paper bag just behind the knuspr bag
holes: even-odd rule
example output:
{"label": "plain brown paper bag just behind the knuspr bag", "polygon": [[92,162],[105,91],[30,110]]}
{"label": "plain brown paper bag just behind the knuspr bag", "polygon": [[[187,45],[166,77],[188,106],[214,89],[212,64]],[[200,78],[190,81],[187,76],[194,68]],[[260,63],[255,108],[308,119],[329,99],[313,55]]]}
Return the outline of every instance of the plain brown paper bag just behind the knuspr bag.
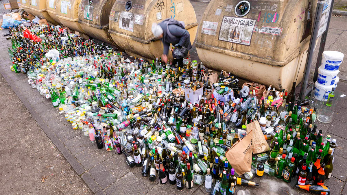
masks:
{"label": "plain brown paper bag just behind the knuspr bag", "polygon": [[258,154],[270,150],[269,144],[266,142],[264,134],[258,121],[251,122],[246,125],[247,133],[253,132],[253,154]]}

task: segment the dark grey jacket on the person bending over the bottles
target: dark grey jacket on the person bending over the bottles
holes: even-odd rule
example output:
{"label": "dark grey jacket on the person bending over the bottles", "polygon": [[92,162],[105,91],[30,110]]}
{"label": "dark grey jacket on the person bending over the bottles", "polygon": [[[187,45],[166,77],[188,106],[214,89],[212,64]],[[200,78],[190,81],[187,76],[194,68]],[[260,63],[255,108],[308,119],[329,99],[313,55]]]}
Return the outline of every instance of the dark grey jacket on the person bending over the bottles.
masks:
{"label": "dark grey jacket on the person bending over the bottles", "polygon": [[[178,23],[178,21],[176,22]],[[163,54],[167,55],[169,53],[170,43],[172,45],[178,43],[180,46],[184,46],[188,50],[192,49],[191,36],[189,35],[188,31],[182,28],[181,26],[175,24],[175,22],[170,22],[169,25],[167,25],[167,23],[168,20],[164,20],[163,22],[158,24],[163,29],[163,38],[160,39],[164,45]],[[168,35],[167,28],[169,28],[170,33],[175,37],[170,37]]]}

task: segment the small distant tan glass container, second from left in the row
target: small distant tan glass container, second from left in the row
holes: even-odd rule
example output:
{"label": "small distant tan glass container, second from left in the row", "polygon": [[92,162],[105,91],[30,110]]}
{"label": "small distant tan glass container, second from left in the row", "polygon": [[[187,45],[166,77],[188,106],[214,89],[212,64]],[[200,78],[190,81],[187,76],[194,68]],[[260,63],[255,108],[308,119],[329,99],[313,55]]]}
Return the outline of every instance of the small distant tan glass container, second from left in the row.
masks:
{"label": "small distant tan glass container, second from left in the row", "polygon": [[29,1],[30,12],[34,16],[46,19],[47,22],[57,24],[56,21],[48,14],[46,0],[27,0]]}

